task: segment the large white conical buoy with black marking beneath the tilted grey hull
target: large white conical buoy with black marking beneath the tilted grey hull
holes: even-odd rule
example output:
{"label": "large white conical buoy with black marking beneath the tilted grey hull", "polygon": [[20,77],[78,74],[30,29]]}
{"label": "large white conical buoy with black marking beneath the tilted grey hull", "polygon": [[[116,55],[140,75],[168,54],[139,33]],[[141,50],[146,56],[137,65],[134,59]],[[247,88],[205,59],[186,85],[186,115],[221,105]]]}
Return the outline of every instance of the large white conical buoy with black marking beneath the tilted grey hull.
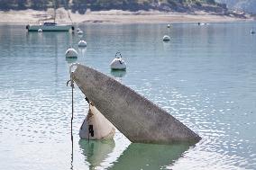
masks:
{"label": "large white conical buoy with black marking beneath the tilted grey hull", "polygon": [[113,139],[114,125],[105,119],[105,116],[99,112],[93,103],[89,103],[87,118],[83,122],[79,137],[81,139]]}

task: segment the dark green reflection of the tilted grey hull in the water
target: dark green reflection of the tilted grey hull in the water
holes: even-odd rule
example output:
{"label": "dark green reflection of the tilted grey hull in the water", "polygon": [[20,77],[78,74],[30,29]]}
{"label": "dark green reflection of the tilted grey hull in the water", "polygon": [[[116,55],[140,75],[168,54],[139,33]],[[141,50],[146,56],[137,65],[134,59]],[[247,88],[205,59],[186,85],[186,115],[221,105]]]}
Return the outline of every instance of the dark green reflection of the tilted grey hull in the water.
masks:
{"label": "dark green reflection of the tilted grey hull in the water", "polygon": [[109,169],[160,169],[183,156],[188,144],[156,145],[132,143]]}

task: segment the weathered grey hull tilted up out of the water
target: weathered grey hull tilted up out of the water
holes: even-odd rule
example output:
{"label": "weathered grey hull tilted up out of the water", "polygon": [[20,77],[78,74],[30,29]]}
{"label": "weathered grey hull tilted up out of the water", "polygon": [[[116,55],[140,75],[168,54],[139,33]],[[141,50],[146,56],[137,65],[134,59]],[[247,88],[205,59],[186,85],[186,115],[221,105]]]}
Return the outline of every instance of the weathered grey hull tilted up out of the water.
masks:
{"label": "weathered grey hull tilted up out of the water", "polygon": [[201,139],[168,112],[114,78],[91,67],[75,65],[71,76],[80,90],[132,142],[197,142]]}

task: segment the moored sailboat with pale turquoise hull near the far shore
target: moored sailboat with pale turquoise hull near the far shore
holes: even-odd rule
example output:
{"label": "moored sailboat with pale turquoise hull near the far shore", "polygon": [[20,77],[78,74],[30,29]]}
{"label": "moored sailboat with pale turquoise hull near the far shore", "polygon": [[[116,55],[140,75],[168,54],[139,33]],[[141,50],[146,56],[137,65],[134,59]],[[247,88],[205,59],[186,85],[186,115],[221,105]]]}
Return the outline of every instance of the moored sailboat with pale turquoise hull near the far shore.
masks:
{"label": "moored sailboat with pale turquoise hull near the far shore", "polygon": [[58,24],[55,22],[44,22],[40,24],[35,25],[27,25],[26,29],[28,31],[38,31],[41,29],[41,31],[69,31],[74,30],[73,25],[67,25],[67,24]]}

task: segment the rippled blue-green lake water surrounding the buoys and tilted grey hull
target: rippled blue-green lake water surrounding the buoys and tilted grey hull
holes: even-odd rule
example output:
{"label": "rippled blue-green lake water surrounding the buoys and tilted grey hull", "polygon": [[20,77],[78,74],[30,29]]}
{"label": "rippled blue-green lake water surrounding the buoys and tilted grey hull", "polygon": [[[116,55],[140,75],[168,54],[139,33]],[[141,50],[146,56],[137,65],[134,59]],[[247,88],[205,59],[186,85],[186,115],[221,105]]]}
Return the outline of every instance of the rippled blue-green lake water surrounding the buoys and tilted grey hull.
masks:
{"label": "rippled blue-green lake water surrounding the buoys and tilted grey hull", "polygon": [[[0,25],[0,167],[13,169],[256,169],[256,23],[89,24],[87,49],[69,32],[27,32]],[[169,34],[171,40],[163,42]],[[71,88],[65,51],[114,76],[197,132],[194,146],[79,139],[87,115]],[[126,72],[111,72],[120,50]]]}

